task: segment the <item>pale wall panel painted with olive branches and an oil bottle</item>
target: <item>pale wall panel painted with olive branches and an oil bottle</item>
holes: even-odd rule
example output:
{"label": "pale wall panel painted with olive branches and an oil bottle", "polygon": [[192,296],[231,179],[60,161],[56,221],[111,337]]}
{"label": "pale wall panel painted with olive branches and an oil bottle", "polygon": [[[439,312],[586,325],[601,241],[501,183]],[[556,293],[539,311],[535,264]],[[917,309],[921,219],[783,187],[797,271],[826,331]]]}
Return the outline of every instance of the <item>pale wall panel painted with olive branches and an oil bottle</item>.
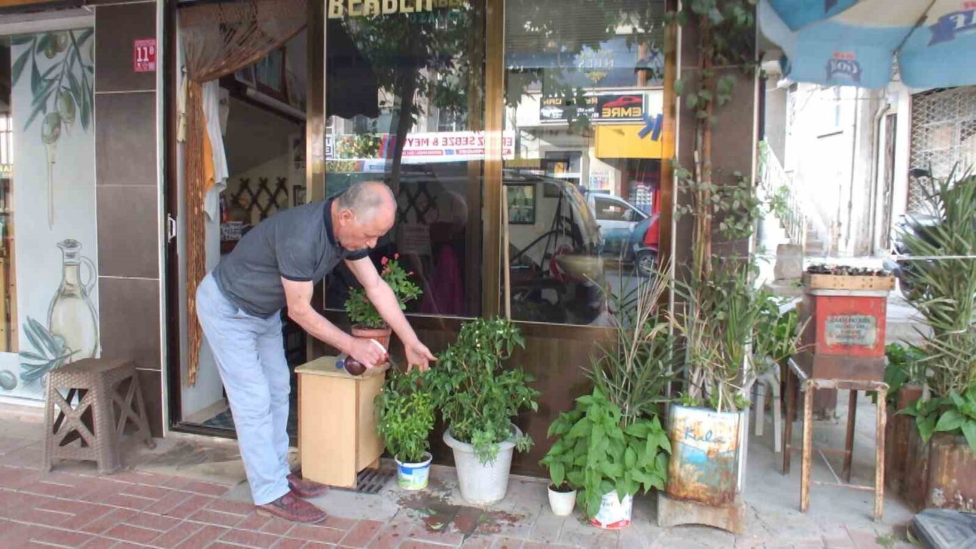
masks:
{"label": "pale wall panel painted with olive branches and an oil bottle", "polygon": [[13,133],[5,292],[16,303],[0,352],[2,396],[43,399],[47,373],[100,353],[94,46],[91,28],[0,42],[10,50],[0,76]]}

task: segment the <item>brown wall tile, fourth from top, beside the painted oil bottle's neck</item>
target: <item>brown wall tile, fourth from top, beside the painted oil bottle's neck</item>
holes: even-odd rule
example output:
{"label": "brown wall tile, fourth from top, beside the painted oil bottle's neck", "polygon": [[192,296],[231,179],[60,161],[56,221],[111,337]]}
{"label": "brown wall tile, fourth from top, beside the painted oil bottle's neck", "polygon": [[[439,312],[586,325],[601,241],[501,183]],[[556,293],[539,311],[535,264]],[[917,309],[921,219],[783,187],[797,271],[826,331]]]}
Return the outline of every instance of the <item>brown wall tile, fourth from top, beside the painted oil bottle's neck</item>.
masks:
{"label": "brown wall tile, fourth from top, beside the painted oil bottle's neck", "polygon": [[159,281],[99,278],[102,356],[159,370]]}

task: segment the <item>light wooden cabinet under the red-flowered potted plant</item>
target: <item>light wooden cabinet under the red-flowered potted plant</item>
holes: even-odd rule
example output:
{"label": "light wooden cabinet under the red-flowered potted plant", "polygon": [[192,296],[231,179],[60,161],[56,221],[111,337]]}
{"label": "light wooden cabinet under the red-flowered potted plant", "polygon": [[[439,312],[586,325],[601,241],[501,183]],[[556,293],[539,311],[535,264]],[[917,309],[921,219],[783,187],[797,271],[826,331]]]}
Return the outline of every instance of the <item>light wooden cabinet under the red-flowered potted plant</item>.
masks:
{"label": "light wooden cabinet under the red-flowered potted plant", "polygon": [[376,434],[373,399],[388,365],[359,376],[326,356],[295,369],[299,378],[299,455],[306,479],[355,488],[356,475],[376,468],[383,440]]}

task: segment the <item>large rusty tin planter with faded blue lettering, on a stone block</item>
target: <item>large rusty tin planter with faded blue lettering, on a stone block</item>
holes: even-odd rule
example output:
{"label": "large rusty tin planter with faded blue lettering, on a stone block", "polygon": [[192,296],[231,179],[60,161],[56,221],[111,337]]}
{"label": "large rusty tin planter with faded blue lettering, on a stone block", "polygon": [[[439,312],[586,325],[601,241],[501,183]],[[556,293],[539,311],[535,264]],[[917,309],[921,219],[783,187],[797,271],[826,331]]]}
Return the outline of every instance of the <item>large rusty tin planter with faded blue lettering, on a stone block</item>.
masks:
{"label": "large rusty tin planter with faded blue lettering, on a stone block", "polygon": [[671,405],[668,495],[715,507],[733,503],[741,488],[748,413]]}

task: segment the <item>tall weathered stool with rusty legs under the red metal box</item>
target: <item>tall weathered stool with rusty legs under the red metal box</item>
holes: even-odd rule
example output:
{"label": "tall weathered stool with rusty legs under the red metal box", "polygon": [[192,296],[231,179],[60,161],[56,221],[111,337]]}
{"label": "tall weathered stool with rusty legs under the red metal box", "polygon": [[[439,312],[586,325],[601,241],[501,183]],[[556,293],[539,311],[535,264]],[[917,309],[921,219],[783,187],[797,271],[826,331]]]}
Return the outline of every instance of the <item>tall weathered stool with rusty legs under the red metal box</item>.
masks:
{"label": "tall weathered stool with rusty legs under the red metal box", "polygon": [[[787,370],[787,421],[784,425],[783,438],[786,443],[786,450],[783,452],[783,474],[790,473],[790,453],[791,451],[801,451],[803,455],[802,470],[800,472],[799,485],[799,510],[805,513],[810,506],[810,460],[813,453],[813,393],[817,389],[847,389],[850,391],[849,408],[847,411],[847,432],[844,437],[844,449],[821,449],[822,453],[834,453],[844,456],[844,466],[840,473],[843,482],[837,478],[837,482],[813,481],[814,485],[834,486],[849,488],[853,490],[874,491],[874,520],[881,520],[884,511],[884,423],[885,423],[885,398],[888,393],[888,384],[883,381],[856,381],[850,379],[824,379],[819,377],[808,377],[805,372],[793,361],[789,360],[790,368]],[[798,379],[802,383],[803,391],[803,443],[800,448],[793,447],[791,437],[793,436],[793,408],[795,407],[793,396],[793,384]],[[857,410],[857,392],[876,391],[877,392],[877,422],[874,434],[874,486],[860,486],[850,484],[851,480],[851,460],[854,454],[854,421]],[[827,464],[830,467],[830,463]],[[831,468],[831,472],[834,469]]]}

